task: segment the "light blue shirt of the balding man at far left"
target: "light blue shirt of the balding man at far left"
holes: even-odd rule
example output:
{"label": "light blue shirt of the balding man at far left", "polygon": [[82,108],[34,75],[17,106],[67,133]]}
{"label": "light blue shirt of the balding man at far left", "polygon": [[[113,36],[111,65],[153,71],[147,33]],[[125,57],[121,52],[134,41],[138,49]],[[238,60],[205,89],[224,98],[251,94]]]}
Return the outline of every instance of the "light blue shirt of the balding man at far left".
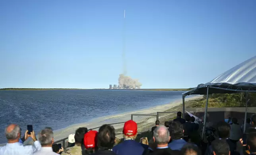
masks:
{"label": "light blue shirt of the balding man at far left", "polygon": [[33,155],[41,149],[39,141],[35,141],[34,145],[23,146],[22,143],[7,143],[6,146],[0,147],[0,155]]}

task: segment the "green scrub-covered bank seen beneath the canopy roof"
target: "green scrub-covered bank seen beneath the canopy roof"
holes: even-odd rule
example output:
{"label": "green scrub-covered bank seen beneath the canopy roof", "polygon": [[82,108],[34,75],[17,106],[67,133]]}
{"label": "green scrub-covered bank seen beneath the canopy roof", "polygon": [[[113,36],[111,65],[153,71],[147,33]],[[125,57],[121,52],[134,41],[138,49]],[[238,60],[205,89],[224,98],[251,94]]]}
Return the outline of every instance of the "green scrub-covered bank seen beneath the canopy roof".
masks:
{"label": "green scrub-covered bank seen beneath the canopy roof", "polygon": [[[248,107],[256,107],[256,93],[248,93]],[[213,94],[209,95],[209,108],[245,107],[246,93]],[[202,99],[195,100],[191,108],[203,108],[206,105],[206,95]]]}

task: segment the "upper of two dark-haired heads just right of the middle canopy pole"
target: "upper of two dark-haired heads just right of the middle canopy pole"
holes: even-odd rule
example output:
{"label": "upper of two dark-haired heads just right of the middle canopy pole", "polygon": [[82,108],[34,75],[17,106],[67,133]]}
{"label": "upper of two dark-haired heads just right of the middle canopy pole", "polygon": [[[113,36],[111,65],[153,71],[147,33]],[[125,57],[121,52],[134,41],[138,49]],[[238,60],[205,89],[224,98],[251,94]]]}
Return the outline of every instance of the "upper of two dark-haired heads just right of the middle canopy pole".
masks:
{"label": "upper of two dark-haired heads just right of the middle canopy pole", "polygon": [[217,123],[216,133],[219,138],[229,138],[230,125],[227,122],[221,121]]}

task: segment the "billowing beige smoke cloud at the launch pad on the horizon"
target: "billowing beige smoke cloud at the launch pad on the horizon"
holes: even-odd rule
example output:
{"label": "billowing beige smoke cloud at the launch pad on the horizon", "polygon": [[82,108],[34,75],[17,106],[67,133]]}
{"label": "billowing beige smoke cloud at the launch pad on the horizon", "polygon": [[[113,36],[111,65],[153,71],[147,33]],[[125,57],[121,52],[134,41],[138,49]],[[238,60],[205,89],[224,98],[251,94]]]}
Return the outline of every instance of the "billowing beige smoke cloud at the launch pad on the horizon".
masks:
{"label": "billowing beige smoke cloud at the launch pad on the horizon", "polygon": [[119,75],[118,84],[121,88],[126,89],[140,89],[142,86],[138,79],[132,79],[130,76],[125,76],[124,74]]}

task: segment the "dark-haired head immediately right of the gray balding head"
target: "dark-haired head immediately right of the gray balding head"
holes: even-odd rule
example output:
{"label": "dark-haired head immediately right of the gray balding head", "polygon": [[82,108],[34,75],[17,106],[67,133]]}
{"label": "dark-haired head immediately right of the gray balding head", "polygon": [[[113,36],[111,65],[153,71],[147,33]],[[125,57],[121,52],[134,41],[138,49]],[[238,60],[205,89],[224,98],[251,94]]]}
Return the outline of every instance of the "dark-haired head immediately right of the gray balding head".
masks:
{"label": "dark-haired head immediately right of the gray balding head", "polygon": [[177,140],[177,139],[183,138],[184,136],[183,126],[178,121],[174,121],[173,123],[171,123],[171,125],[169,126],[169,131],[170,131],[172,140]]}

